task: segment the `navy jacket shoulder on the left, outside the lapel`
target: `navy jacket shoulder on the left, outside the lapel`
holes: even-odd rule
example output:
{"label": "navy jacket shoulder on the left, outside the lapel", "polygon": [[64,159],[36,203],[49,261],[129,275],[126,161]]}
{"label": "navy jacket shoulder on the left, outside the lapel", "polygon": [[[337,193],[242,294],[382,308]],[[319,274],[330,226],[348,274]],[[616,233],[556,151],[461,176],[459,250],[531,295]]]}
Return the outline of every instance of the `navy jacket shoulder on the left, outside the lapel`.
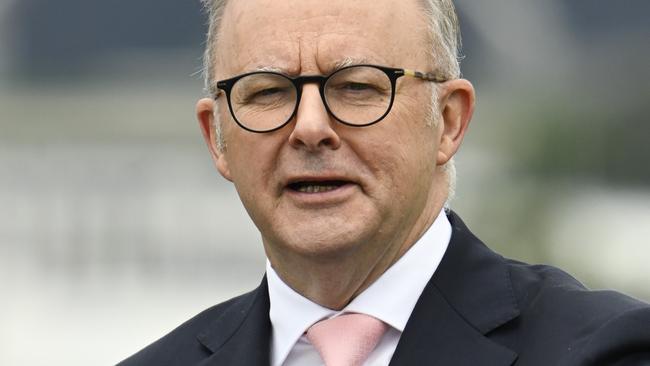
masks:
{"label": "navy jacket shoulder on the left, outside the lapel", "polygon": [[118,365],[190,365],[201,361],[211,353],[199,341],[201,334],[212,324],[219,322],[224,314],[232,309],[245,307],[245,304],[251,302],[256,291],[237,296],[202,311]]}

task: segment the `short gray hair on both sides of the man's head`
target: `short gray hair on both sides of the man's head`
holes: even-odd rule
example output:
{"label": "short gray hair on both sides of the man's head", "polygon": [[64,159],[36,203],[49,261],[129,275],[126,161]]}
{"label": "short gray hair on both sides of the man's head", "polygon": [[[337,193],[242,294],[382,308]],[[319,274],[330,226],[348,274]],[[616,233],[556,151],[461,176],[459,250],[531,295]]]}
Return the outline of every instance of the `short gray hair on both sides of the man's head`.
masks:
{"label": "short gray hair on both sides of the man's head", "polygon": [[[203,55],[203,78],[205,90],[209,95],[216,93],[215,60],[217,45],[219,41],[219,28],[223,13],[228,0],[201,0],[208,14],[209,25],[206,39],[205,53]],[[453,0],[420,0],[423,13],[426,15],[429,25],[427,41],[430,43],[428,52],[434,67],[438,73],[449,79],[459,78],[461,34]],[[431,112],[427,113],[428,123],[436,125],[439,121],[438,112],[438,88],[432,87]],[[217,135],[217,148],[223,151],[225,142],[221,135],[217,108],[214,113],[214,128]],[[447,183],[448,198],[445,204],[448,207],[454,196],[456,187],[456,167],[453,159],[449,160],[443,167]]]}

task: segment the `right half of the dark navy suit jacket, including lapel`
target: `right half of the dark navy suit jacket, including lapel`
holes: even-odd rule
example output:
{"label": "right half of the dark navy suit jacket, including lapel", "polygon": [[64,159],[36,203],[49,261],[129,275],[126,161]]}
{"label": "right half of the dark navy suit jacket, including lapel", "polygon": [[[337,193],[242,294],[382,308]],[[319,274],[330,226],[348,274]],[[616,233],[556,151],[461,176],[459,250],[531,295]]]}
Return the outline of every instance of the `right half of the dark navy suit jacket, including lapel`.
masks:
{"label": "right half of the dark navy suit jacket, including lapel", "polygon": [[650,365],[650,306],[489,250],[454,213],[452,239],[391,365]]}

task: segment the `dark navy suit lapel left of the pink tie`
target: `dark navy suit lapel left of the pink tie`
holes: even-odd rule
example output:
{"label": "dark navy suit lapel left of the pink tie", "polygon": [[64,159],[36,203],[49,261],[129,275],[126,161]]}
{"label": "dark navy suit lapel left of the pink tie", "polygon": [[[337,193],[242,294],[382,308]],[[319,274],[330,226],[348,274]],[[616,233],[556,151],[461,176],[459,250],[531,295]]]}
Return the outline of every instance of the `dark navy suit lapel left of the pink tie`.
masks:
{"label": "dark navy suit lapel left of the pink tie", "polygon": [[271,322],[266,277],[257,289],[234,302],[197,338],[213,352],[200,366],[269,365]]}

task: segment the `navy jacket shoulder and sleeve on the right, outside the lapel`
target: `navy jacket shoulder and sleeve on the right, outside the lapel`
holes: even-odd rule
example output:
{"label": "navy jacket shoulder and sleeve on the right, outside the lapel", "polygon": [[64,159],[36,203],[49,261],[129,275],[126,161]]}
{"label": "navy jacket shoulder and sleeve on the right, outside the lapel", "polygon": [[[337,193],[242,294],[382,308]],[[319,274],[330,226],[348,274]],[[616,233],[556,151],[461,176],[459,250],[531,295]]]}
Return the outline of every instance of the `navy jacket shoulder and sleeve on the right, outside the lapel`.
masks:
{"label": "navy jacket shoulder and sleeve on the right, outside the lapel", "polygon": [[520,309],[516,323],[526,330],[522,348],[561,350],[559,364],[566,365],[650,364],[650,305],[589,290],[555,267],[506,263]]}

